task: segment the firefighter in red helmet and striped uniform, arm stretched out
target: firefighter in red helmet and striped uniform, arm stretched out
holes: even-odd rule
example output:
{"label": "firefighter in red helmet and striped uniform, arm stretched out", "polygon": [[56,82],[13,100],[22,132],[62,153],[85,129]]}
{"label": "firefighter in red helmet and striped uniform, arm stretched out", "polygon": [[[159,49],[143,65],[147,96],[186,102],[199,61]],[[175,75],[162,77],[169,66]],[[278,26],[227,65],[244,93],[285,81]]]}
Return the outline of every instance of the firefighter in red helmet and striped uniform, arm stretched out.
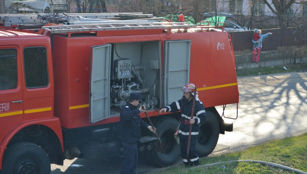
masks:
{"label": "firefighter in red helmet and striped uniform, arm stretched out", "polygon": [[[183,164],[185,164],[186,167],[190,167],[189,165],[192,166],[199,165],[199,156],[196,152],[196,143],[200,129],[199,125],[206,120],[206,112],[204,105],[198,99],[198,94],[194,96],[194,89],[195,85],[192,83],[183,86],[181,88],[181,91],[183,91],[183,97],[180,100],[174,101],[170,105],[167,105],[160,110],[160,113],[161,112],[174,113],[179,110],[181,111],[181,121],[180,121],[178,135],[180,137],[181,156],[183,158]],[[193,97],[196,97],[195,98],[196,101],[194,106],[193,119],[191,119]],[[192,125],[192,132],[191,132],[189,156],[187,157],[186,153],[188,148],[188,135],[189,135],[190,125]],[[188,160],[191,162],[190,164]]]}

